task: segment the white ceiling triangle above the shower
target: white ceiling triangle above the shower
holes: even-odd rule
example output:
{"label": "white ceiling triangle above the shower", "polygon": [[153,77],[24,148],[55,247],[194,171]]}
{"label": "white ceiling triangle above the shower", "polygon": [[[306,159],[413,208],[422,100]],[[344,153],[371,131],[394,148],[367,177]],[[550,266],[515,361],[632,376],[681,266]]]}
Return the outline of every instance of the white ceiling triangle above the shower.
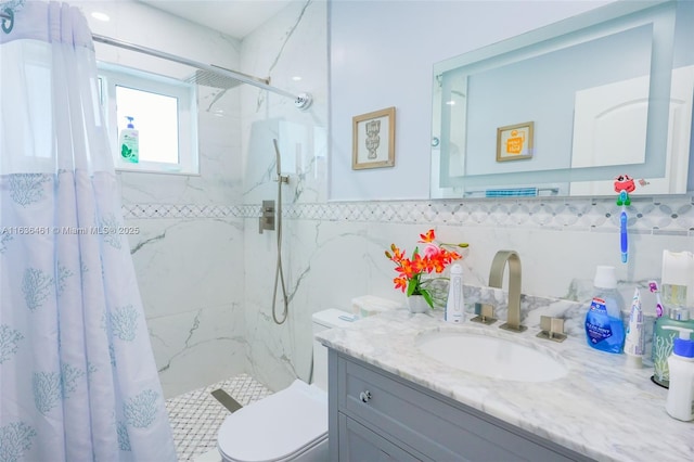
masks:
{"label": "white ceiling triangle above the shower", "polygon": [[139,1],[241,40],[293,0]]}

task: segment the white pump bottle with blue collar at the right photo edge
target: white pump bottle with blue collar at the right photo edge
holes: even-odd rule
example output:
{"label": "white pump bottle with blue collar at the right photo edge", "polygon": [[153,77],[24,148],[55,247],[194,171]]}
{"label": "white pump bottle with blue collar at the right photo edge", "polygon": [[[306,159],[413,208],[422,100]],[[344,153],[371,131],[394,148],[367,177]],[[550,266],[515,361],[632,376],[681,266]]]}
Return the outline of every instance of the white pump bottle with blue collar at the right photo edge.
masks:
{"label": "white pump bottle with blue collar at the right photo edge", "polygon": [[694,341],[690,338],[694,330],[674,325],[664,325],[663,329],[680,333],[668,358],[670,389],[665,410],[670,416],[687,422],[694,420]]}

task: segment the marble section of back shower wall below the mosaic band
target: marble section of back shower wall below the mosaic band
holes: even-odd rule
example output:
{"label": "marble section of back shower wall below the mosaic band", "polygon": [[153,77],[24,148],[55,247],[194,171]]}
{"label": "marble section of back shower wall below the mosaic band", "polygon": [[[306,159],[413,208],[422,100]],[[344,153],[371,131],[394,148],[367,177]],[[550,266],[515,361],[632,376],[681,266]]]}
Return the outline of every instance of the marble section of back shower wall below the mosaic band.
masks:
{"label": "marble section of back shower wall below the mosaic band", "polygon": [[126,218],[131,254],[166,397],[245,371],[243,220],[190,215]]}

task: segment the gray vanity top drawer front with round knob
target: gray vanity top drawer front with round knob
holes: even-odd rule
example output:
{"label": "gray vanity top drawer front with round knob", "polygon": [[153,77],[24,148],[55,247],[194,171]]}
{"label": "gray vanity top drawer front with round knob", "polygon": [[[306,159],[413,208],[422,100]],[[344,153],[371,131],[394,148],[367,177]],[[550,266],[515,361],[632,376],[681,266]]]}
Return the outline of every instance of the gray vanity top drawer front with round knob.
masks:
{"label": "gray vanity top drawer front with round knob", "polygon": [[337,358],[338,412],[387,439],[416,448],[430,459],[587,460],[370,364],[354,358]]}

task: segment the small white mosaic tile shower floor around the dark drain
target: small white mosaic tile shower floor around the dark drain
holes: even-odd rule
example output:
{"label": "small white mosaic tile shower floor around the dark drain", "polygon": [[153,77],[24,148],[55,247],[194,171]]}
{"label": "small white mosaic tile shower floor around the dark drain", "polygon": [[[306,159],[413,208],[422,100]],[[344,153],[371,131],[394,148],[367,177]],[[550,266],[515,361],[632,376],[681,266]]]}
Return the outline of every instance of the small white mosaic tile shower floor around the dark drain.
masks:
{"label": "small white mosaic tile shower floor around the dark drain", "polygon": [[218,382],[166,400],[179,461],[193,461],[217,448],[217,432],[229,411],[211,392],[221,388],[242,406],[272,392],[247,374]]}

